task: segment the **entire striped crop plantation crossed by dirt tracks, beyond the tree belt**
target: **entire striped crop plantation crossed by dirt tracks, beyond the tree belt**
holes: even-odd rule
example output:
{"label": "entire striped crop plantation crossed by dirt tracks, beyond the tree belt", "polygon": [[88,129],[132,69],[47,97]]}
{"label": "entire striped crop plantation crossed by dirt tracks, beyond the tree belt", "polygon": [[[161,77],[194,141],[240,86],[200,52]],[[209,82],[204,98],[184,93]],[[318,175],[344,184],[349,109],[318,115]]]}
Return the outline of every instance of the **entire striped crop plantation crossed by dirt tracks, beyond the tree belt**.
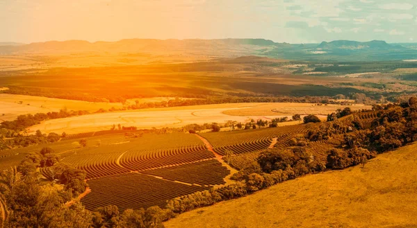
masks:
{"label": "entire striped crop plantation crossed by dirt tracks, beyond the tree belt", "polygon": [[[180,108],[186,107],[177,107]],[[291,135],[306,128],[307,125],[296,125],[295,128],[202,133],[208,141],[182,132],[145,133],[138,137],[124,134],[135,131],[117,130],[74,134],[48,145],[4,150],[0,152],[0,168],[16,166],[29,153],[49,146],[63,162],[87,172],[91,192],[81,202],[88,209],[107,204],[115,204],[120,210],[152,205],[164,207],[166,200],[234,183],[229,174],[236,170],[222,160],[224,148],[245,149],[239,151],[243,155],[259,152],[270,147],[274,138],[277,138],[277,145],[286,145]],[[224,137],[230,140],[222,145],[219,142],[224,141]],[[80,139],[87,140],[85,148],[74,145]],[[238,156],[236,152],[235,157]],[[47,170],[41,172],[49,176]]]}

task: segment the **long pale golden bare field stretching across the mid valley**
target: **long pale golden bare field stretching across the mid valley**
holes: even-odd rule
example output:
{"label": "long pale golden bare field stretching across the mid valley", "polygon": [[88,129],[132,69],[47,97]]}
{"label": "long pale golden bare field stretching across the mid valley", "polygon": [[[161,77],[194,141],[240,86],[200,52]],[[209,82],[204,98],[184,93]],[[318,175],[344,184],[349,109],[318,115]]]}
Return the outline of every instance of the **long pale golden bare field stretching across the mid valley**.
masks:
{"label": "long pale golden bare field stretching across the mid valley", "polygon": [[[257,107],[260,107],[261,111],[258,111]],[[113,124],[136,126],[138,128],[178,128],[192,123],[224,123],[225,121],[245,123],[250,119],[270,120],[283,116],[291,119],[293,114],[299,114],[299,112],[300,114],[313,112],[324,115],[344,107],[347,106],[303,103],[237,103],[140,109],[136,111],[108,112],[53,119],[32,126],[28,132],[33,133],[36,130],[41,130],[44,133],[56,132],[61,134],[66,132],[67,134],[77,134],[108,130]],[[348,107],[351,107],[352,110],[370,109],[368,105],[350,105]],[[269,112],[268,109],[270,110]],[[240,112],[240,110],[243,111]],[[325,119],[325,116],[322,116],[322,118]]]}

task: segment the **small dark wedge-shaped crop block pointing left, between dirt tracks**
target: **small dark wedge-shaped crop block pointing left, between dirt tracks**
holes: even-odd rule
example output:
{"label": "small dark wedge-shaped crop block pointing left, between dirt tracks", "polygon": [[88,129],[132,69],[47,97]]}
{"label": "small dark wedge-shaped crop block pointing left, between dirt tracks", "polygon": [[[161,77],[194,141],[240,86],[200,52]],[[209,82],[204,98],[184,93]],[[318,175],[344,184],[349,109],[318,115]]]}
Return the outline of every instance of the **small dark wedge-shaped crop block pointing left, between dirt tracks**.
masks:
{"label": "small dark wedge-shaped crop block pointing left, between dirt tracks", "polygon": [[181,166],[146,170],[142,173],[203,186],[224,184],[224,177],[229,175],[230,171],[218,160],[210,159]]}

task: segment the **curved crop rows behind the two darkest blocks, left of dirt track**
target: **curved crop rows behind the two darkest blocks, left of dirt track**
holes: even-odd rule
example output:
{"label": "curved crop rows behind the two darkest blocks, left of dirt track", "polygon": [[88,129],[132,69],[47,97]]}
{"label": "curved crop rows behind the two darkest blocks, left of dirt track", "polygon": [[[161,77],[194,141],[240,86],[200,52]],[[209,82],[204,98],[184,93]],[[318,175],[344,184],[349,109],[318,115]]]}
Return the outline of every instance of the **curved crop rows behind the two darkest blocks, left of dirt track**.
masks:
{"label": "curved crop rows behind the two darkest blocks, left of dirt track", "polygon": [[[87,178],[91,179],[128,173],[130,170],[145,170],[210,159],[214,156],[206,151],[202,141],[190,134],[147,134],[132,141],[126,141],[120,136],[115,137],[120,143],[72,150],[65,154],[64,161],[87,171]],[[106,138],[108,136],[92,139]],[[102,140],[101,143],[108,143],[108,140]],[[117,164],[118,159],[120,164]]]}

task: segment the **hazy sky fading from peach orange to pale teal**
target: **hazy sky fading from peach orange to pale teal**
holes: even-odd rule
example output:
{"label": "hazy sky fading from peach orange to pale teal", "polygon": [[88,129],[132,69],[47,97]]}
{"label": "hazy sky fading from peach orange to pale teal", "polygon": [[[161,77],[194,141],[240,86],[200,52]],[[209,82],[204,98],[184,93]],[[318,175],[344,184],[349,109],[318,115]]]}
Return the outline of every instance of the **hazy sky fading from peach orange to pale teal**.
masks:
{"label": "hazy sky fading from peach orange to pale teal", "polygon": [[417,42],[417,1],[0,0],[0,42],[265,38]]}

